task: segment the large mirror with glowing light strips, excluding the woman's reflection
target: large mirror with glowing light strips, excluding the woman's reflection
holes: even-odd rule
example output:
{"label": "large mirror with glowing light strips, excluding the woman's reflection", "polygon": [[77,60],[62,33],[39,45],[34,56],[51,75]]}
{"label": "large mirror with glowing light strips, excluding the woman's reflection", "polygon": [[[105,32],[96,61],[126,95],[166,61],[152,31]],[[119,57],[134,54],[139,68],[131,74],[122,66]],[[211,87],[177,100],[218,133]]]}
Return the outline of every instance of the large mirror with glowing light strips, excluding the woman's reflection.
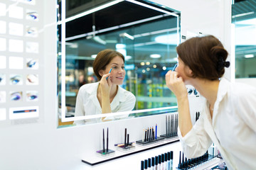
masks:
{"label": "large mirror with glowing light strips, excluding the woman's reflection", "polygon": [[150,1],[66,0],[58,4],[59,125],[101,116],[75,116],[75,103],[82,85],[98,81],[92,63],[105,49],[124,55],[126,75],[120,86],[136,98],[132,112],[121,113],[124,118],[175,110],[176,97],[166,86],[165,74],[177,62],[178,11]]}

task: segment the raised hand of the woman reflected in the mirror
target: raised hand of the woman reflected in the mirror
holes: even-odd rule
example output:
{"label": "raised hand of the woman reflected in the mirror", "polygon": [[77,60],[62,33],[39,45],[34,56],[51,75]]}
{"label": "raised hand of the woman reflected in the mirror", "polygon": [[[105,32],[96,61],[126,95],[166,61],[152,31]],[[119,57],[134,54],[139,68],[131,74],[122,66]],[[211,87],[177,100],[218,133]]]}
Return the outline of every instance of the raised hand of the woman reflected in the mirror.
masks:
{"label": "raised hand of the woman reflected in the mirror", "polygon": [[110,76],[110,73],[104,74],[102,79],[100,79],[100,89],[102,96],[108,96],[110,98],[110,89],[112,87],[111,79],[112,77]]}

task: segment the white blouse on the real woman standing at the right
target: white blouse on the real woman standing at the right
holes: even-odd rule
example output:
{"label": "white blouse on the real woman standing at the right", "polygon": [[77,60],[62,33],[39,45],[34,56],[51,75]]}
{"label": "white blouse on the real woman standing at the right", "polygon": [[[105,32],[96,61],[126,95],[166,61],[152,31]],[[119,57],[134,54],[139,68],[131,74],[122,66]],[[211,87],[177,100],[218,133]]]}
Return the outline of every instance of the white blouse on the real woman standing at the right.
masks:
{"label": "white blouse on the real woman standing at the right", "polygon": [[203,106],[200,118],[184,137],[178,130],[186,157],[203,155],[214,142],[228,169],[256,169],[256,89],[222,78],[213,120],[206,100]]}

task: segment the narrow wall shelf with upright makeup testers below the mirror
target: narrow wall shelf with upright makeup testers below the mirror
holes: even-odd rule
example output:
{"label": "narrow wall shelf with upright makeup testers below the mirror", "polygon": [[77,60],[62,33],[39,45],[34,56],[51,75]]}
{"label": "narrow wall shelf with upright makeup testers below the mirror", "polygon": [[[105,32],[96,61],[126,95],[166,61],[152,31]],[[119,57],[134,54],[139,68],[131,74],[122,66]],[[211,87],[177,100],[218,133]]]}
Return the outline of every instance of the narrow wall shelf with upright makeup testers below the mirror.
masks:
{"label": "narrow wall shelf with upright makeup testers below the mirror", "polygon": [[[102,148],[96,151],[97,156],[99,157],[83,157],[82,162],[90,165],[100,164],[102,162],[107,162],[112,159],[118,159],[120,157],[125,157],[130,154],[136,154],[139,152],[146,151],[148,149],[153,149],[156,147],[161,147],[164,145],[169,145],[173,142],[178,141],[177,136],[177,127],[178,127],[178,114],[171,113],[170,115],[163,116],[165,122],[162,121],[161,125],[155,124],[148,128],[142,129],[141,140],[136,142],[130,142],[131,135],[128,133],[127,128],[124,128],[124,142],[114,144],[114,148],[109,148],[109,128],[107,128],[107,137],[106,131],[102,130]],[[161,128],[161,131],[159,131]],[[164,135],[161,133],[165,132]],[[159,134],[160,133],[160,134]],[[122,135],[121,135],[122,136]],[[166,159],[168,157],[166,156]]]}

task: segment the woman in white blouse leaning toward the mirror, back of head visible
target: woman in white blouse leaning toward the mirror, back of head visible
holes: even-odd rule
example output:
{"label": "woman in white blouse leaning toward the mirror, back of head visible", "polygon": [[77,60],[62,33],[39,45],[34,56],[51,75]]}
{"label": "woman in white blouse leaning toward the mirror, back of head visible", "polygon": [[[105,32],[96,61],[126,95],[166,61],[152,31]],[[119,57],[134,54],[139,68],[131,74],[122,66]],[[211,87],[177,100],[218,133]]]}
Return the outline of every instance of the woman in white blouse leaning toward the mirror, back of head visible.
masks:
{"label": "woman in white blouse leaning toward the mirror, back of head visible", "polygon": [[[256,89],[223,78],[228,52],[212,35],[178,45],[178,67],[166,85],[178,101],[178,135],[186,157],[199,157],[214,142],[228,169],[256,169]],[[191,123],[186,84],[206,98]]]}

